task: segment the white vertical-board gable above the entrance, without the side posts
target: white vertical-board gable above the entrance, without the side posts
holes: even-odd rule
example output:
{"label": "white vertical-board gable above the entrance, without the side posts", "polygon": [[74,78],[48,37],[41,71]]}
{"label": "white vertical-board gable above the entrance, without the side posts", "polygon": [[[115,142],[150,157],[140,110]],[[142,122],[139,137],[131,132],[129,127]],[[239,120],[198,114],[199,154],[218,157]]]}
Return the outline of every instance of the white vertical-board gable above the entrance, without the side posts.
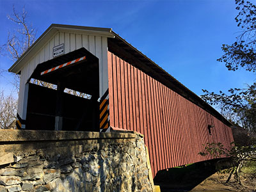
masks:
{"label": "white vertical-board gable above the entrance, without the side posts", "polygon": [[99,66],[102,66],[103,60],[106,59],[105,61],[107,61],[107,37],[58,31],[21,69],[20,74],[24,78],[24,81],[28,81],[38,64],[52,60],[52,48],[60,44],[64,44],[64,54],[84,47],[99,58]]}

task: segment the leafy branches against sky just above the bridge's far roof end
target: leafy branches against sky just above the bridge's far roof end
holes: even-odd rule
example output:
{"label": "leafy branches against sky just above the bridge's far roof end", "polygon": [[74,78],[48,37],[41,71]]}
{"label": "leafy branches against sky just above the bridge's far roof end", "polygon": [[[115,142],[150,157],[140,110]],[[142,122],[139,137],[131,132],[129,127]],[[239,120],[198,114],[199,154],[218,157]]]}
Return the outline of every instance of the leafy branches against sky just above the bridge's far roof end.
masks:
{"label": "leafy branches against sky just above the bridge's far roof end", "polygon": [[249,132],[256,131],[256,83],[247,88],[228,90],[229,94],[203,90],[202,99],[221,109],[221,114]]}

